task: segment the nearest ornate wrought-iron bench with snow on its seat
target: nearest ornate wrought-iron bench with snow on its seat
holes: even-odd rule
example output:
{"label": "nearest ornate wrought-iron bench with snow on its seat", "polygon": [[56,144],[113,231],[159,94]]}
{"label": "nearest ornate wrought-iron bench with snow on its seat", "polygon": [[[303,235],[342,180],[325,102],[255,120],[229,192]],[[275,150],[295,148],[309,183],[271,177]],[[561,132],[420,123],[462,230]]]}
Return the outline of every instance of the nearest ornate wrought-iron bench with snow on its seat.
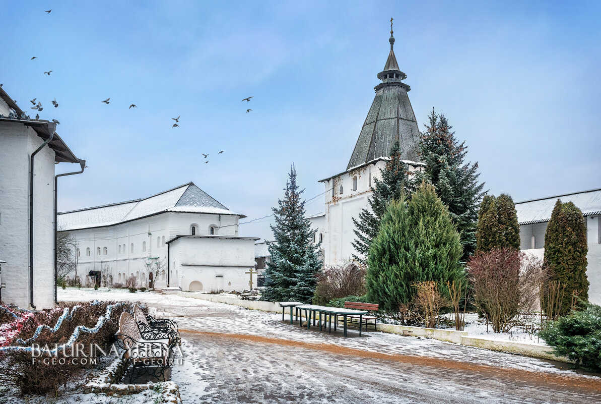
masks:
{"label": "nearest ornate wrought-iron bench with snow on its seat", "polygon": [[[164,338],[146,339],[159,335]],[[172,344],[169,334],[163,332],[142,332],[136,321],[126,311],[121,313],[119,330],[115,334],[117,343],[124,350],[123,359],[129,362],[124,377],[129,383],[138,376],[148,375],[165,381],[165,370],[172,364]]]}

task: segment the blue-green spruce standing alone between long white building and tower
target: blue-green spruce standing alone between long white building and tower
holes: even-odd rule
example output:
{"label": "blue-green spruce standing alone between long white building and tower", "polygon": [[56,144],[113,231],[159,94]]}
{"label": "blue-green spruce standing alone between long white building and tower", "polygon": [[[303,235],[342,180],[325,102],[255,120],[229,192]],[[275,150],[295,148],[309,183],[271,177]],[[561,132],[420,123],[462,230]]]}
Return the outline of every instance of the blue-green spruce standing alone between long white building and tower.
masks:
{"label": "blue-green spruce standing alone between long white building and tower", "polygon": [[292,166],[278,207],[272,208],[275,217],[274,241],[267,243],[272,263],[265,270],[263,300],[282,302],[298,300],[310,302],[316,287],[316,275],[322,267],[319,244],[313,243],[316,230],[311,230],[305,217],[305,201],[296,184],[296,170]]}

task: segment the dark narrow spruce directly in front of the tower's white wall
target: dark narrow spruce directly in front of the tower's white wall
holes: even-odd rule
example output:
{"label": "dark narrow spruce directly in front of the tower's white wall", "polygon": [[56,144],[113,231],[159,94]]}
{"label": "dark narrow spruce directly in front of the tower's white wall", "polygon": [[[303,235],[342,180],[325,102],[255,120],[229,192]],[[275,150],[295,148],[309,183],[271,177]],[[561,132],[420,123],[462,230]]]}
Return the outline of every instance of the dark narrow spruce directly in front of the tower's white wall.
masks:
{"label": "dark narrow spruce directly in front of the tower's white wall", "polygon": [[400,200],[404,195],[410,198],[415,190],[413,181],[409,179],[409,166],[401,158],[401,149],[398,140],[394,142],[390,149],[390,159],[386,161],[386,166],[380,170],[382,179],[374,178],[374,187],[371,187],[373,194],[367,199],[370,209],[364,209],[359,213],[359,220],[353,217],[355,223],[356,238],[352,243],[359,256],[353,255],[355,259],[365,262],[367,250],[371,241],[378,232],[380,220],[386,211],[386,205],[391,200]]}

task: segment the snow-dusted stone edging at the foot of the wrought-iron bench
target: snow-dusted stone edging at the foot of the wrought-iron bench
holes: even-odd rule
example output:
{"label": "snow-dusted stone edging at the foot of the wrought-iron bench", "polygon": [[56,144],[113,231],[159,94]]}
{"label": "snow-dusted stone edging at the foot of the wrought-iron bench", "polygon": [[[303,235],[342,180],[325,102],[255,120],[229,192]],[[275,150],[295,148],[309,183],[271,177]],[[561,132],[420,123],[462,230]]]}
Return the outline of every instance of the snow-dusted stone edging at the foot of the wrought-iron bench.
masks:
{"label": "snow-dusted stone edging at the foot of the wrought-iron bench", "polygon": [[154,385],[160,384],[163,387],[163,390],[161,391],[163,403],[182,404],[179,387],[170,380],[159,383],[148,382],[146,384],[118,383],[127,370],[128,365],[127,361],[123,359],[123,355],[116,358],[96,379],[91,380],[84,386],[84,394],[105,393],[107,396],[113,396],[114,394],[126,396],[129,394],[140,393],[143,390],[151,390]]}

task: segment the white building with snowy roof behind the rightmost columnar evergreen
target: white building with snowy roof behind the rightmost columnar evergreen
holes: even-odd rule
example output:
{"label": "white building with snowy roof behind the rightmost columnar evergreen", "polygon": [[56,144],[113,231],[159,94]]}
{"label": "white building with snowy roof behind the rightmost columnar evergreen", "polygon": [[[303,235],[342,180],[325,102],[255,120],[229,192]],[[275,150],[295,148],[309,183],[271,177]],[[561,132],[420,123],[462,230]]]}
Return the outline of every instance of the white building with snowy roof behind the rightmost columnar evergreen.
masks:
{"label": "white building with snowy roof behind the rightmost columnar evergreen", "polygon": [[557,199],[573,202],[584,215],[587,225],[588,300],[601,304],[601,188],[578,193],[525,200],[516,204],[517,221],[520,225],[520,249],[543,258],[545,232]]}

